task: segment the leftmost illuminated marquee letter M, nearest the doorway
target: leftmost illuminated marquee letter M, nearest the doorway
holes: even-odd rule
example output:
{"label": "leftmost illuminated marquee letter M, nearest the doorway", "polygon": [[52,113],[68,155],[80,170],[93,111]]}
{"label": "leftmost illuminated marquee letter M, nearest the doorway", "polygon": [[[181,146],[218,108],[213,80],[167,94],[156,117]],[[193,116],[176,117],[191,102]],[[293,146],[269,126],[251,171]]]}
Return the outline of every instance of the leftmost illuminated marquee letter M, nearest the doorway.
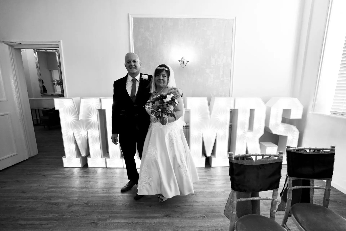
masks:
{"label": "leftmost illuminated marquee letter M, nearest the doorway", "polygon": [[100,98],[55,98],[54,104],[60,114],[64,167],[82,167],[86,160],[88,167],[106,167],[99,136]]}

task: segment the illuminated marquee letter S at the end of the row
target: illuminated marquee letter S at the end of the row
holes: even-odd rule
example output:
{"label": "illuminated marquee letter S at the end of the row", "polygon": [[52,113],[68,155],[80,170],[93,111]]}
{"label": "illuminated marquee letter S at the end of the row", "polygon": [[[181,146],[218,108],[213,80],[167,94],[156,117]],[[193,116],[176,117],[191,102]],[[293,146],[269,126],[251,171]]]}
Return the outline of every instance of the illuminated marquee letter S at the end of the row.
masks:
{"label": "illuminated marquee letter S at the end of the row", "polygon": [[[267,118],[265,120],[265,129],[273,134],[280,135],[278,150],[286,155],[286,145],[297,147],[299,131],[287,123],[282,123],[282,117],[288,119],[301,119],[303,114],[303,105],[297,98],[273,97],[266,104]],[[290,111],[283,111],[289,109]],[[283,163],[286,163],[284,157]]]}

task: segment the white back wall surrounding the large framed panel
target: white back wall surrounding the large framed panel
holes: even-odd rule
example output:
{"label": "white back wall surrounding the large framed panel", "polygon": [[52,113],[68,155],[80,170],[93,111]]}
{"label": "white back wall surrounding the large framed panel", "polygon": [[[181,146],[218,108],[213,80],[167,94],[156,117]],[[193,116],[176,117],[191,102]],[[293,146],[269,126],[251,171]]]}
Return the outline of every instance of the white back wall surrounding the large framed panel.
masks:
{"label": "white back wall surrounding the large framed panel", "polygon": [[[236,16],[234,96],[291,96],[302,1],[16,0],[0,3],[0,39],[63,41],[69,97],[112,96],[125,76],[128,13]],[[142,60],[147,65],[148,60]]]}

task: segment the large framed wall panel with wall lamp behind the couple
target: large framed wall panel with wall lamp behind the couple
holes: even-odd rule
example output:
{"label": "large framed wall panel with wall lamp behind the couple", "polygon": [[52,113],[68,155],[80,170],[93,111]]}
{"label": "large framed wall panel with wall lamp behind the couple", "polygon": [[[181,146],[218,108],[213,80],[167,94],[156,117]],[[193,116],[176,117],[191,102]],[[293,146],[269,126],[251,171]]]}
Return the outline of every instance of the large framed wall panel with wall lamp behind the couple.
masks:
{"label": "large framed wall panel with wall lamp behind the couple", "polygon": [[[174,70],[185,96],[232,96],[235,17],[129,15],[130,48],[153,74],[159,64]],[[182,68],[178,60],[189,63]]]}

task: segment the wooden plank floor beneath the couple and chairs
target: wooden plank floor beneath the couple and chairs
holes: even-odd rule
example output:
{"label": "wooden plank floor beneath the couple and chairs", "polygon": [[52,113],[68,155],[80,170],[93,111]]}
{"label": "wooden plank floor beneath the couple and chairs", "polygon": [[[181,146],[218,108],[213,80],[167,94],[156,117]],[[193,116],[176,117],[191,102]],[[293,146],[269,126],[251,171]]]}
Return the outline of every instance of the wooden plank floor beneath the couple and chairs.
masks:
{"label": "wooden plank floor beneath the couple and chairs", "polygon": [[[64,168],[60,128],[35,132],[39,154],[0,171],[0,230],[228,230],[223,215],[231,190],[228,167],[198,168],[195,194],[164,203],[156,195],[135,201],[137,186],[120,193],[126,169]],[[285,174],[284,167],[279,191]],[[315,190],[316,203],[322,197]],[[329,208],[346,218],[346,195],[332,188],[330,198]],[[269,216],[269,207],[261,201],[263,215]],[[277,212],[276,221],[282,216]],[[288,225],[298,230],[291,218]]]}

